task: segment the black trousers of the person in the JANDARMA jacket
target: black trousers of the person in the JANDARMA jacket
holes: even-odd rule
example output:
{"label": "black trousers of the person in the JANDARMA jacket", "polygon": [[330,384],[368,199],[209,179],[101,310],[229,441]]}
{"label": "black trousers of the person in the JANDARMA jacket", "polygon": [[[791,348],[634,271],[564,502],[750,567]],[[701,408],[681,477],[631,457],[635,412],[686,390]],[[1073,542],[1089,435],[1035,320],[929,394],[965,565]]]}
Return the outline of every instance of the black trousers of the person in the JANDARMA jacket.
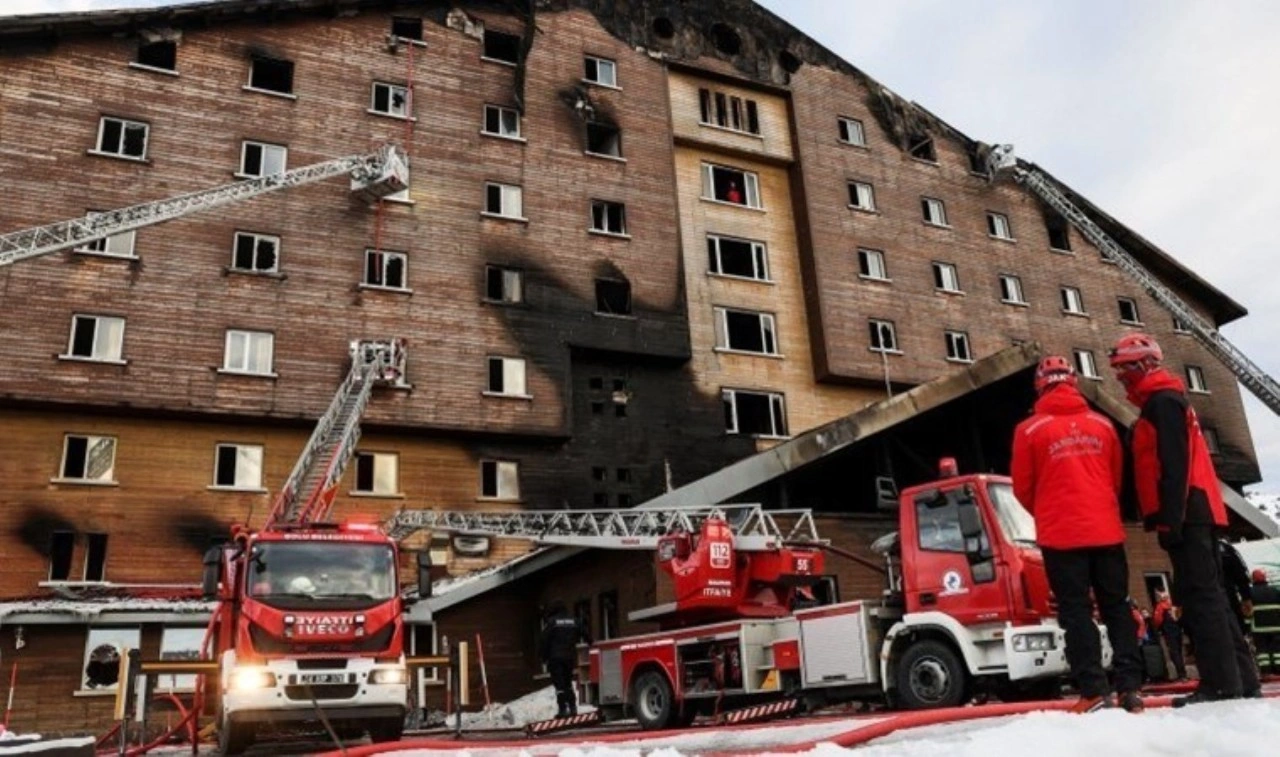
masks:
{"label": "black trousers of the person in the JANDARMA jacket", "polygon": [[1129,611],[1129,560],[1124,544],[1041,552],[1048,587],[1057,599],[1057,623],[1066,633],[1066,662],[1080,696],[1102,697],[1111,690],[1102,669],[1102,638],[1093,623],[1091,590],[1111,640],[1115,688],[1137,692],[1143,665],[1138,624]]}

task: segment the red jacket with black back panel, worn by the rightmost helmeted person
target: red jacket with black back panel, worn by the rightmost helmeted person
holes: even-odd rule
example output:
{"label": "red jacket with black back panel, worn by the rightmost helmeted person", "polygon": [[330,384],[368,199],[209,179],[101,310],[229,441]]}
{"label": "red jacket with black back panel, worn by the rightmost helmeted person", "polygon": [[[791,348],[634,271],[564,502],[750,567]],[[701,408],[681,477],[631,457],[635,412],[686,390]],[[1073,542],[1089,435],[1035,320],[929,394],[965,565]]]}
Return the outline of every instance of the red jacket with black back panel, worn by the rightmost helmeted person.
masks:
{"label": "red jacket with black back panel, worn by the rightmost helmeted person", "polygon": [[1217,473],[1181,379],[1153,370],[1129,401],[1142,409],[1133,425],[1133,475],[1147,530],[1180,534],[1187,523],[1225,526]]}

